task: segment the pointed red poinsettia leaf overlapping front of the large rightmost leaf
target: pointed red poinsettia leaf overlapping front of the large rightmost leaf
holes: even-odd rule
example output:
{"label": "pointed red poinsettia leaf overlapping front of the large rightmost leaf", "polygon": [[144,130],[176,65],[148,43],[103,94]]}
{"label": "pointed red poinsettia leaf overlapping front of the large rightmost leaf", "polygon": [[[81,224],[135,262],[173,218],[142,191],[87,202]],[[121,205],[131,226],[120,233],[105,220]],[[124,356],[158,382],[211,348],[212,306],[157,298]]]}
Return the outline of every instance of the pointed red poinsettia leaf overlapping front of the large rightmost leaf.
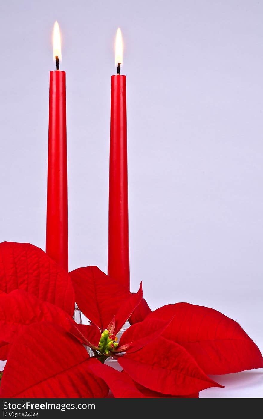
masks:
{"label": "pointed red poinsettia leaf overlapping front of the large rightmost leaf", "polygon": [[207,377],[194,358],[180,345],[162,337],[118,362],[144,387],[163,394],[187,396],[209,387],[222,387]]}

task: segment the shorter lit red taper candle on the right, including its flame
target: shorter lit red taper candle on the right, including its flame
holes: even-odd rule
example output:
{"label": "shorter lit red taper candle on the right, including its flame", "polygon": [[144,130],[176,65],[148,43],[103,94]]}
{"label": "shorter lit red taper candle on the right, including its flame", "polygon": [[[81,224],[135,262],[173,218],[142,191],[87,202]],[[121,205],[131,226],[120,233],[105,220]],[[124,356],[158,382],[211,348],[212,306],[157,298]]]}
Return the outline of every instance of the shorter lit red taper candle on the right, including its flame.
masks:
{"label": "shorter lit red taper candle on the right, including its flame", "polygon": [[119,29],[116,56],[117,75],[111,77],[108,275],[129,288],[126,76],[120,75],[122,39]]}

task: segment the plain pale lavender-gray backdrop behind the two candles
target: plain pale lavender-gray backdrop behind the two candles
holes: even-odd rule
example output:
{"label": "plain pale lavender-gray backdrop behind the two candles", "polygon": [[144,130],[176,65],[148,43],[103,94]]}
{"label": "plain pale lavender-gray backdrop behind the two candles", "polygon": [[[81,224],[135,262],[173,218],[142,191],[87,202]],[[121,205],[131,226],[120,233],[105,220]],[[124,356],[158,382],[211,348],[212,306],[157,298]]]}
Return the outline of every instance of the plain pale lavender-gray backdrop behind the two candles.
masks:
{"label": "plain pale lavender-gray backdrop behind the two candles", "polygon": [[[221,310],[262,348],[263,3],[1,2],[0,239],[43,249],[56,19],[67,79],[70,269],[107,270],[110,76],[120,26],[132,290],[143,279],[152,308],[188,301]],[[202,396],[259,394],[255,372],[229,380]]]}

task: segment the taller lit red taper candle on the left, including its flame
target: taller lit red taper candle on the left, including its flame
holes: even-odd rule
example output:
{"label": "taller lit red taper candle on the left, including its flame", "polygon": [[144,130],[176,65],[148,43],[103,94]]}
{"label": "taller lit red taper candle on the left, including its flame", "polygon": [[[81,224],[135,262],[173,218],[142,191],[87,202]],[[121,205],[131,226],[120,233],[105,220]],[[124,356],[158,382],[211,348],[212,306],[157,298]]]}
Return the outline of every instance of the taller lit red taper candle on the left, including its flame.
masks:
{"label": "taller lit red taper candle on the left, including its flame", "polygon": [[59,70],[61,49],[57,22],[54,28],[54,55],[57,70],[50,72],[49,79],[46,253],[68,272],[66,73]]}

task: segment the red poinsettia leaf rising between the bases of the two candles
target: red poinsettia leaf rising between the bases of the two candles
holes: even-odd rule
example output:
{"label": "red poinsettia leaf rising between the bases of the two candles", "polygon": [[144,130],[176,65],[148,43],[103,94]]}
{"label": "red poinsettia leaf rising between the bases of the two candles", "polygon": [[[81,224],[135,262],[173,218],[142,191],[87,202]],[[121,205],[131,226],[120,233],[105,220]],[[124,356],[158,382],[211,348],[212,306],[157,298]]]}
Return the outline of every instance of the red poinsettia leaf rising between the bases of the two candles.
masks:
{"label": "red poinsettia leaf rising between the bases of the two candles", "polygon": [[97,266],[78,268],[69,275],[78,307],[101,331],[105,330],[123,301],[130,297],[130,291]]}

